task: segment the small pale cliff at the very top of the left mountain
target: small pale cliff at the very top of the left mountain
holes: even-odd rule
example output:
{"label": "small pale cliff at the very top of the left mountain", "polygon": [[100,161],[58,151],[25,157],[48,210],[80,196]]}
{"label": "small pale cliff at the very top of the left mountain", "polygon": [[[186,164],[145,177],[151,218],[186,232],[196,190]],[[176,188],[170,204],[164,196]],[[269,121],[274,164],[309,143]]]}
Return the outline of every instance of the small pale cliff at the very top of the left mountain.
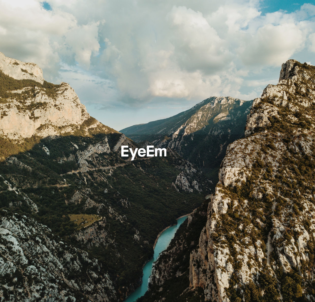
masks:
{"label": "small pale cliff at the very top of the left mountain", "polygon": [[6,75],[16,79],[30,79],[43,84],[43,70],[34,63],[25,63],[6,57],[0,52],[0,69]]}

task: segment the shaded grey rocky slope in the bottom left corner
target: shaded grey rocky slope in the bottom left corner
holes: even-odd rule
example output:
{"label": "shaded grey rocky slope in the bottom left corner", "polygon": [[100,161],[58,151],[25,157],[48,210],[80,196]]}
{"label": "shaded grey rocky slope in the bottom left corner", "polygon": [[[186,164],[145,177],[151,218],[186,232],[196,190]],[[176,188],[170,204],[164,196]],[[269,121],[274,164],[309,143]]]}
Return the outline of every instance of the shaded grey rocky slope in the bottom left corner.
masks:
{"label": "shaded grey rocky slope in the bottom left corner", "polygon": [[56,239],[50,229],[26,216],[1,212],[0,297],[30,302],[117,300],[98,261]]}

